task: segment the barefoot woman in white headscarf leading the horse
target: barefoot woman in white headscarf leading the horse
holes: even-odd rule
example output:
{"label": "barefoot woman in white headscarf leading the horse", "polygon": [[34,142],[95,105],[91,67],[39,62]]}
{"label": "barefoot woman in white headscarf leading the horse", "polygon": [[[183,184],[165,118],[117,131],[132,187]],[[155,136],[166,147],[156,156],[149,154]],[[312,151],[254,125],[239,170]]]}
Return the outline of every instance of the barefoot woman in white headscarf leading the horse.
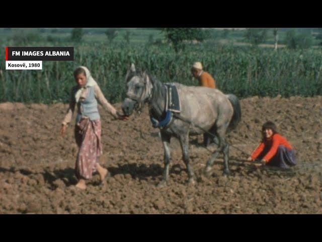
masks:
{"label": "barefoot woman in white headscarf leading the horse", "polygon": [[77,106],[74,129],[76,144],[79,148],[75,164],[75,175],[78,179],[76,187],[85,190],[86,180],[92,178],[93,172],[98,171],[102,183],[108,173],[108,170],[98,163],[98,157],[102,155],[102,143],[101,120],[96,99],[115,118],[125,120],[126,117],[119,114],[106,100],[100,87],[86,67],[76,68],[74,78],[77,85],[71,89],[69,108],[62,122],[60,135],[65,133],[75,106]]}

